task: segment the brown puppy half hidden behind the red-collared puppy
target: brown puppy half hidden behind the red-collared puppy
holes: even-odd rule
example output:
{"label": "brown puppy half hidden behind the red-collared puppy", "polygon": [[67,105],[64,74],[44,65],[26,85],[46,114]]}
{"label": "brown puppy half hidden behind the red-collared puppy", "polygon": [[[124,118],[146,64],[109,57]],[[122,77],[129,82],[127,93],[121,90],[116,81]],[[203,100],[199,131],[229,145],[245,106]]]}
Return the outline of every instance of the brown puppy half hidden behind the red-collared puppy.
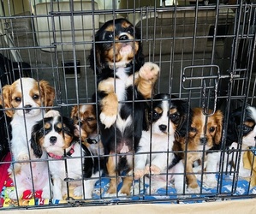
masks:
{"label": "brown puppy half hidden behind the red-collared puppy", "polygon": [[95,106],[93,104],[74,105],[71,110],[74,120],[74,134],[94,155],[104,155],[104,147],[98,134]]}

